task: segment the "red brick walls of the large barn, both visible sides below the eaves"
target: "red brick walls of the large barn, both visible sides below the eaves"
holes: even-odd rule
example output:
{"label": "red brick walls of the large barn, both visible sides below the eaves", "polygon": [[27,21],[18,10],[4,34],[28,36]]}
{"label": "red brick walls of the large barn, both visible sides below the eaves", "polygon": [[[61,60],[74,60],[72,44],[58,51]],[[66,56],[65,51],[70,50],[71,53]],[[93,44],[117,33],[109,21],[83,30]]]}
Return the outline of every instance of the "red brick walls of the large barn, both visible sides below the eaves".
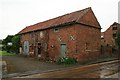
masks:
{"label": "red brick walls of the large barn, both visible sides below the eaves", "polygon": [[[100,29],[74,24],[59,27],[58,32],[54,32],[54,28],[42,32],[42,38],[40,38],[40,31],[35,32],[35,42],[40,42],[43,47],[44,43],[47,43],[49,59],[56,60],[58,58],[61,43],[66,43],[67,55],[77,58],[77,60],[91,59],[100,54]],[[70,36],[73,36],[74,40],[71,40]],[[59,38],[61,38],[61,41]],[[34,44],[34,38],[31,38],[31,33],[22,35],[22,45],[25,40],[29,41],[30,45]],[[36,46],[34,45],[34,47]],[[42,52],[45,54],[44,51]],[[37,55],[35,48],[34,53]]]}

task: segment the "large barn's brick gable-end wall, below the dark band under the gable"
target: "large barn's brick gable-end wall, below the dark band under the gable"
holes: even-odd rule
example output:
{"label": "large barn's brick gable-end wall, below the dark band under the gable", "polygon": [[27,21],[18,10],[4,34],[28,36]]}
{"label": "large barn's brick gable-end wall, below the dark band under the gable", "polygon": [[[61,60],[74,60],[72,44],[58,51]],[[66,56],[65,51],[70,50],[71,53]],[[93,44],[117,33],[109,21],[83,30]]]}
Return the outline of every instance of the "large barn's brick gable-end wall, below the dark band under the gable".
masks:
{"label": "large barn's brick gable-end wall, below the dark band under the gable", "polygon": [[77,24],[76,31],[77,53],[74,55],[79,55],[79,60],[97,57],[101,48],[100,29]]}

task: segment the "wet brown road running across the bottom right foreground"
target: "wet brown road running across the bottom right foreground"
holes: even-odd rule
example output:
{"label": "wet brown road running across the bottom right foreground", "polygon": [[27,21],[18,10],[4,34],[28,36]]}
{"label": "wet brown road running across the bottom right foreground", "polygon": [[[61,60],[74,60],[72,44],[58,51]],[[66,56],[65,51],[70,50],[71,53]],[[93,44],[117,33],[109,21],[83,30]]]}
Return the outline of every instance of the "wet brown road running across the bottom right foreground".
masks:
{"label": "wet brown road running across the bottom right foreground", "polygon": [[118,78],[118,65],[120,61],[109,61],[104,63],[86,65],[83,67],[72,67],[63,70],[49,71],[40,74],[21,76],[17,78]]}

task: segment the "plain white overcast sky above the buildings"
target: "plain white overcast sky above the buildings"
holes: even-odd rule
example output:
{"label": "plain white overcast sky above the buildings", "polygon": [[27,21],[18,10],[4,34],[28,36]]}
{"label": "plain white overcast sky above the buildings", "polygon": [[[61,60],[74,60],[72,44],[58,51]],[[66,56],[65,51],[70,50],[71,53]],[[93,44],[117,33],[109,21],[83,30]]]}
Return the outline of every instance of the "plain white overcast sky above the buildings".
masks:
{"label": "plain white overcast sky above the buildings", "polygon": [[120,0],[0,0],[0,39],[26,26],[91,7],[102,32],[118,22]]}

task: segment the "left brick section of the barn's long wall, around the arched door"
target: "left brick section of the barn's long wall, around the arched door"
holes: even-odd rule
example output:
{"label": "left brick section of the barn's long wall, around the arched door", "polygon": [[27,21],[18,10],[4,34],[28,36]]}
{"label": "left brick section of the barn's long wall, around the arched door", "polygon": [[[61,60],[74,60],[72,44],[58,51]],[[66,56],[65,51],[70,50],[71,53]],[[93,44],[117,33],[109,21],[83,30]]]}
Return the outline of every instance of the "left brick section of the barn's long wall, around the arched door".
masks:
{"label": "left brick section of the barn's long wall, around the arched door", "polygon": [[[29,54],[31,56],[31,52],[33,53],[32,56],[35,56],[37,55],[37,51],[36,51],[36,47],[37,47],[37,43],[41,43],[42,44],[42,52],[45,52],[45,49],[44,49],[44,43],[47,43],[48,41],[48,34],[47,34],[47,30],[43,30],[42,33],[43,33],[43,37],[40,37],[40,32],[41,31],[36,31],[36,32],[30,32],[30,33],[27,33],[27,34],[23,34],[21,35],[21,45],[22,45],[22,48],[23,48],[23,45],[24,45],[24,41],[28,41],[29,42]],[[31,34],[33,33],[33,37],[31,36]]]}

